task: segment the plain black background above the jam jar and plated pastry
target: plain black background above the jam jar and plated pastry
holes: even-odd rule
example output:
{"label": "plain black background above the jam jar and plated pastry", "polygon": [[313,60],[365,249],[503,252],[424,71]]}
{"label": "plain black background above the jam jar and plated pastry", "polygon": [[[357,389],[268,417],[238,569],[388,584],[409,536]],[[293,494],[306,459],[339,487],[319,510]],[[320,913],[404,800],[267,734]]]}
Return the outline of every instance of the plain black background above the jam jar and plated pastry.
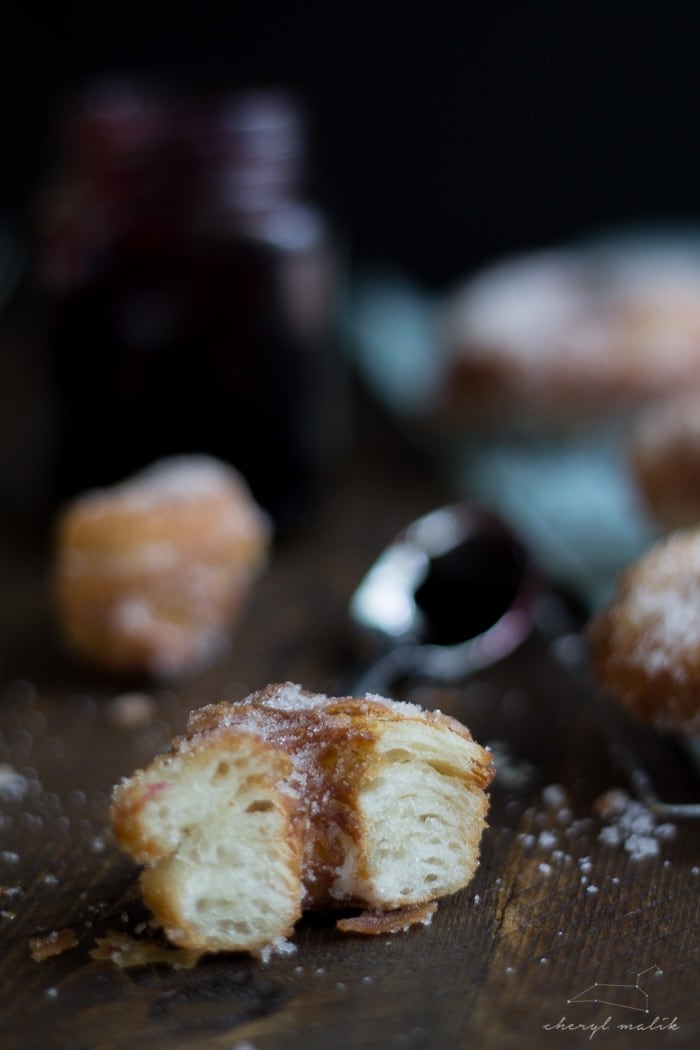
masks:
{"label": "plain black background above the jam jar and plated pastry", "polygon": [[694,220],[695,4],[2,5],[0,214],[22,232],[64,93],[107,71],[309,102],[356,267],[442,288],[501,253]]}

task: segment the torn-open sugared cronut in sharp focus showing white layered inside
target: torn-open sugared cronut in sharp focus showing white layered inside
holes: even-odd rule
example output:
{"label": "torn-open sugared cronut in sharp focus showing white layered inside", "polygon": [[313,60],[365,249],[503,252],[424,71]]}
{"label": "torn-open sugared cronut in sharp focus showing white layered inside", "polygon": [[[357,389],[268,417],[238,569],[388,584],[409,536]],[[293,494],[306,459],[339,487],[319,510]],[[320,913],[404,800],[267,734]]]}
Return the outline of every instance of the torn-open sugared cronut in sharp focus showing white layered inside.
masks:
{"label": "torn-open sugared cronut in sharp focus showing white layered inside", "polygon": [[447,715],[287,682],[194,711],[115,788],[112,824],[174,944],[259,950],[306,909],[385,912],[467,885],[492,777]]}

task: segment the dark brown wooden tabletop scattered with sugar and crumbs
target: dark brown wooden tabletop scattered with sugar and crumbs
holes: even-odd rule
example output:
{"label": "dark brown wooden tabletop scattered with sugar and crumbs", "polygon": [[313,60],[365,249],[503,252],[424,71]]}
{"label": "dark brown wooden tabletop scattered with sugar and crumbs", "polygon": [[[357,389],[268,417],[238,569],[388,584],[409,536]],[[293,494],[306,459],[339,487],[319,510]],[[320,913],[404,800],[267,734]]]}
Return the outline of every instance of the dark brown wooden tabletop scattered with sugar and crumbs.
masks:
{"label": "dark brown wooden tabletop scattered with sugar and crumbs", "polygon": [[[479,872],[431,925],[362,938],[310,916],[293,954],[208,956],[189,969],[91,956],[101,938],[133,933],[145,918],[136,868],[108,830],[112,785],[201,704],[288,679],[333,692],[353,663],[353,588],[403,524],[453,494],[362,403],[352,455],[309,528],[276,546],[230,656],[177,688],[136,684],[152,716],[129,728],[119,697],[134,684],[77,668],[56,637],[47,521],[27,481],[41,458],[30,407],[41,372],[17,356],[22,333],[9,328],[0,345],[0,1046],[700,1045],[698,824],[648,830],[639,858],[630,833],[606,823],[597,800],[624,789],[624,776],[590,697],[539,634],[470,681],[401,692],[460,717],[499,759]],[[697,798],[697,776],[674,747],[629,729],[664,794]],[[71,931],[75,945],[36,961],[30,942],[55,930]]]}

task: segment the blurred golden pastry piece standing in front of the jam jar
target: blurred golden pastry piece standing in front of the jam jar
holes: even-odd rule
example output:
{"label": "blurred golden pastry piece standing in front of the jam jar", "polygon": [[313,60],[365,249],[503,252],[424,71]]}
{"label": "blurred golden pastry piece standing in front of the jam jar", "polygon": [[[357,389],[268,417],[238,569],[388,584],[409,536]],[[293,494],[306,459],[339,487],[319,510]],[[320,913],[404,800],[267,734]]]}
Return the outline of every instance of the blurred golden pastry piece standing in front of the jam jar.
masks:
{"label": "blurred golden pastry piece standing in front of the jam jar", "polygon": [[269,544],[245,480],[208,456],[158,460],[85,492],[57,522],[65,642],[110,672],[167,679],[196,671],[226,648]]}

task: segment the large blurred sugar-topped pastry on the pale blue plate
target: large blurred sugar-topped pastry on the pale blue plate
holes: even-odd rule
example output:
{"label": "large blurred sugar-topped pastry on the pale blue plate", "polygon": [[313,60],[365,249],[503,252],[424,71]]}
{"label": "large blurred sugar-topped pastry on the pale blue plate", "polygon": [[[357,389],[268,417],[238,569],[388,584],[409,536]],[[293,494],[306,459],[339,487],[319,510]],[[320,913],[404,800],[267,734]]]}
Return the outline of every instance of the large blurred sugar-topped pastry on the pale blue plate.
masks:
{"label": "large blurred sugar-topped pastry on the pale blue plate", "polygon": [[569,248],[506,259],[447,297],[454,422],[570,428],[700,386],[700,257]]}

